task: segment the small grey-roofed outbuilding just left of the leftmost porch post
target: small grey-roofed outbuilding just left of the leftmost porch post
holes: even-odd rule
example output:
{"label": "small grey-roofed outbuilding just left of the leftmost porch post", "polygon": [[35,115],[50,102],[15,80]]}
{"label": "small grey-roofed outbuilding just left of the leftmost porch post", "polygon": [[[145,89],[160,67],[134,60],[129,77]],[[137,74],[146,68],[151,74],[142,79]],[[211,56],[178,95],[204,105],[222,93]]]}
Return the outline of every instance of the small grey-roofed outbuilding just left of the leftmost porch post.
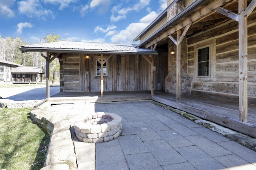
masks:
{"label": "small grey-roofed outbuilding just left of the leftmost porch post", "polygon": [[12,83],[42,83],[43,67],[18,66],[12,69]]}

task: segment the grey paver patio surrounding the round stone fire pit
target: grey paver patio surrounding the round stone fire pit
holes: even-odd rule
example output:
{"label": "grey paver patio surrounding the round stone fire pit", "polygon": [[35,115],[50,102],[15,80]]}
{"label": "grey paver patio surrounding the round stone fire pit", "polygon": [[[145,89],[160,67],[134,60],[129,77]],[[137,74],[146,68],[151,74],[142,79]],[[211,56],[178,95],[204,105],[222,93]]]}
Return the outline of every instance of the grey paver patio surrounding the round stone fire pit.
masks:
{"label": "grey paver patio surrounding the round stone fire pit", "polygon": [[72,138],[79,170],[256,170],[256,152],[151,102],[63,104],[46,109],[74,121],[88,112],[112,112],[122,135],[107,143]]}

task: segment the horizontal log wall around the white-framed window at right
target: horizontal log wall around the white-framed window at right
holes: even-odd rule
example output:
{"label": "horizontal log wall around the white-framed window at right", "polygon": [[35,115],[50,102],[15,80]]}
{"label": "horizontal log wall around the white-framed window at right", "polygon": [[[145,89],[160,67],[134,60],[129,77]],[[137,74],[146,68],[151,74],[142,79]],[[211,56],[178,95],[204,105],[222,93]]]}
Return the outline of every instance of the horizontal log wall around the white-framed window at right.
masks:
{"label": "horizontal log wall around the white-framed window at right", "polygon": [[[248,97],[256,96],[256,12],[248,18]],[[194,47],[216,42],[214,78],[192,82],[192,93],[220,92],[238,95],[238,22],[230,20],[187,39],[188,74],[193,78],[196,57]],[[212,66],[211,66],[212,67]],[[194,92],[193,92],[194,90]]]}

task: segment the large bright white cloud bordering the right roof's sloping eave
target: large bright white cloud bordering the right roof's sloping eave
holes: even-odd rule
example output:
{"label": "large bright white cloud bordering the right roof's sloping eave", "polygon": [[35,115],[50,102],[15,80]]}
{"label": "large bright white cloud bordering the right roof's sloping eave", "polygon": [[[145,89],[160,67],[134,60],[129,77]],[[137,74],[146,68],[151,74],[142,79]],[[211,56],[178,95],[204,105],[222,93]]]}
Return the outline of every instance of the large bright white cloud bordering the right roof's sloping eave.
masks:
{"label": "large bright white cloud bordering the right roof's sloping eave", "polygon": [[157,16],[158,14],[156,14],[156,12],[150,12],[148,15],[141,18],[138,23],[130,23],[126,29],[113,35],[110,40],[113,43],[134,43],[133,39],[139,35]]}

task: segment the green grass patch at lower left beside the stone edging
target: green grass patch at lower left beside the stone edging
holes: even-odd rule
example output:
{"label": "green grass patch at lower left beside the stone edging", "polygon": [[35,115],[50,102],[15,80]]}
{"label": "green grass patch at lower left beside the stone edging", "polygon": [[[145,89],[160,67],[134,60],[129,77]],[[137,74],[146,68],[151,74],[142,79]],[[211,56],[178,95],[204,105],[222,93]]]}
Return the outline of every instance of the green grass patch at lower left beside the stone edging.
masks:
{"label": "green grass patch at lower left beside the stone edging", "polygon": [[39,170],[50,135],[30,118],[30,108],[0,108],[0,169]]}

